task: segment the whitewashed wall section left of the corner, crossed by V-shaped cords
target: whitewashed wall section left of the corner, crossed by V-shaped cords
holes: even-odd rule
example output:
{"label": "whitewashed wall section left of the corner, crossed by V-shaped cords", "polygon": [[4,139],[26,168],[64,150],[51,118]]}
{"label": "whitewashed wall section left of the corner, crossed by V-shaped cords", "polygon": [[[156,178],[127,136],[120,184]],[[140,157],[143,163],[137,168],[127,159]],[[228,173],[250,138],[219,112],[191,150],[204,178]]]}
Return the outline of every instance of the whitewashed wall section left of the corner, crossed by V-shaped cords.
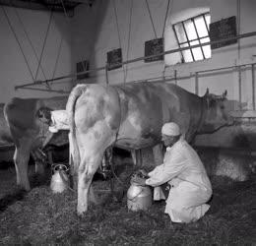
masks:
{"label": "whitewashed wall section left of the corner, crossed by V-shaped cords", "polygon": [[[35,76],[37,60],[32,51],[32,46],[26,37],[25,31],[22,28],[22,24],[19,22],[16,11],[20,16],[26,31],[29,33],[32,40],[32,45],[34,46],[38,57],[40,56],[43,46],[43,40],[47,30],[50,13],[45,11],[32,11],[9,7],[4,8],[21,42],[23,51],[29,61],[32,74]],[[53,76],[58,77],[71,73],[72,54],[69,22],[70,21],[67,21],[62,13],[54,13],[41,59],[41,66],[45,73],[46,79],[51,79]],[[58,47],[62,37],[63,42],[59,62],[57,64],[55,75],[53,75]],[[60,95],[59,93],[52,92],[14,90],[15,86],[32,83],[32,76],[2,9],[0,9],[0,74],[0,102],[6,102],[13,96],[45,97]],[[37,80],[44,80],[41,70],[39,70]],[[46,89],[44,86],[40,88]],[[71,89],[71,84],[54,84],[52,89],[69,91]]]}

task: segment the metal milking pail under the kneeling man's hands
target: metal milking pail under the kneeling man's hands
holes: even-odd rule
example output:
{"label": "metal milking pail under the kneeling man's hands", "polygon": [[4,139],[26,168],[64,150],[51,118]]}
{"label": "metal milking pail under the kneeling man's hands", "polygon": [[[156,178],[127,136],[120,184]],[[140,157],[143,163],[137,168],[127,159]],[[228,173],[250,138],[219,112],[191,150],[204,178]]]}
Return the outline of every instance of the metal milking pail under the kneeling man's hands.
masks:
{"label": "metal milking pail under the kneeling man's hands", "polygon": [[149,186],[131,182],[127,191],[127,207],[131,211],[148,210],[152,206],[152,191]]}

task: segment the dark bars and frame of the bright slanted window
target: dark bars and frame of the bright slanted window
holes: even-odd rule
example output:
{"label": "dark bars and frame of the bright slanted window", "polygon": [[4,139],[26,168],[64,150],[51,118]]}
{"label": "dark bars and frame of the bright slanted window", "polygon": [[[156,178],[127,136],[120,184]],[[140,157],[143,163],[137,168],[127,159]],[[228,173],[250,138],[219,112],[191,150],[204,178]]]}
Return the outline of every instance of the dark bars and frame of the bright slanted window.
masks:
{"label": "dark bars and frame of the bright slanted window", "polygon": [[[180,22],[175,23],[175,24],[172,25],[172,30],[173,30],[173,32],[174,32],[174,35],[175,35],[175,38],[176,38],[178,47],[179,47],[179,48],[182,48],[182,45],[184,45],[184,44],[187,45],[187,47],[189,47],[189,49],[187,49],[187,50],[190,51],[191,57],[192,57],[192,59],[193,59],[192,61],[185,61],[185,57],[184,57],[184,55],[183,55],[183,51],[180,50],[179,53],[180,53],[180,55],[181,55],[181,62],[182,62],[182,63],[189,63],[189,62],[195,62],[195,61],[203,61],[203,60],[206,60],[206,59],[209,59],[209,58],[212,57],[212,55],[211,55],[211,57],[206,58],[205,51],[204,51],[204,49],[203,49],[202,42],[201,42],[201,40],[204,39],[204,38],[207,38],[207,37],[208,37],[208,38],[210,39],[210,29],[209,29],[210,23],[209,23],[209,26],[208,26],[208,25],[207,25],[207,21],[206,21],[206,16],[207,16],[207,15],[210,16],[210,12],[202,13],[202,14],[200,14],[200,15],[197,15],[197,16],[194,16],[194,17],[191,17],[191,18],[188,18],[188,19],[186,19],[186,20],[184,20],[184,21],[180,21]],[[199,36],[199,31],[198,31],[198,28],[197,28],[197,26],[196,26],[196,24],[195,24],[195,19],[200,18],[200,17],[203,17],[203,20],[204,20],[205,27],[206,27],[206,30],[207,30],[208,35]],[[210,16],[210,18],[211,18],[211,16]],[[189,38],[188,38],[188,33],[187,33],[187,31],[186,31],[186,28],[185,28],[185,23],[186,23],[187,21],[191,21],[191,22],[193,23],[194,29],[195,29],[195,31],[196,31],[196,36],[197,36],[197,38],[194,38],[194,39],[189,39]],[[182,41],[182,42],[179,41],[177,31],[175,30],[175,27],[177,27],[177,26],[180,25],[180,24],[182,25],[182,30],[184,31],[184,34],[185,34],[185,37],[186,37],[186,41]],[[202,55],[203,55],[203,59],[197,59],[197,60],[195,59],[194,54],[193,54],[193,48],[191,48],[191,46],[193,46],[193,45],[190,44],[190,43],[193,42],[193,41],[198,41],[198,44],[200,45],[200,49],[201,49],[201,52],[202,52]],[[211,45],[210,45],[210,49],[211,49]]]}

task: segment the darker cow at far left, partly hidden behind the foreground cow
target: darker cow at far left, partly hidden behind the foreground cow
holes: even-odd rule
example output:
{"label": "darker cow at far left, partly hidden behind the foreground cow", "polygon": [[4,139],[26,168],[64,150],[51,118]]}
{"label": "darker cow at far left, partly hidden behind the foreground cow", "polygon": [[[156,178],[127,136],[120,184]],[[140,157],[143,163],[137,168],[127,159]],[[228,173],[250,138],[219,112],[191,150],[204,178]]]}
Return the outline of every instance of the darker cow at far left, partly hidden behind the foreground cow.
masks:
{"label": "darker cow at far left, partly hidden behind the foreground cow", "polygon": [[[40,151],[51,140],[53,133],[48,130],[50,120],[49,110],[64,109],[67,96],[50,98],[18,98],[14,97],[5,104],[4,114],[10,128],[10,134],[15,145],[14,163],[16,167],[17,184],[25,190],[31,190],[28,175],[30,154],[35,159],[35,171],[43,172]],[[60,137],[60,142],[66,144],[67,137]],[[60,144],[61,145],[61,144]]]}

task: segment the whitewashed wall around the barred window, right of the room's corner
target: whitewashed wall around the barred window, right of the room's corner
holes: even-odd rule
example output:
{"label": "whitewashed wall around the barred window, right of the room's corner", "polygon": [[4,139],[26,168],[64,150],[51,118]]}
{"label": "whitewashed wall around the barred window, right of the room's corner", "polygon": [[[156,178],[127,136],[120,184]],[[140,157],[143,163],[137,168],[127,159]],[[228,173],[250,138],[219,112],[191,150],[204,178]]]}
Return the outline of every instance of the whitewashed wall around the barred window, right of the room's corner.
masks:
{"label": "whitewashed wall around the barred window, right of the room's corner", "polygon": [[[91,60],[92,68],[104,66],[106,63],[106,52],[119,48],[120,46],[122,48],[123,60],[144,56],[145,41],[155,38],[146,2],[133,1],[130,48],[128,52],[130,7],[132,1],[115,0],[115,3],[121,44],[119,44],[118,40],[113,1],[98,0],[92,10],[77,8],[74,18],[77,25],[73,26],[73,30],[77,33],[84,32],[84,37],[80,39],[83,41],[76,41],[75,47],[73,47],[75,50],[80,50],[80,52],[76,51],[77,55],[74,56],[75,62],[81,60],[80,56],[82,52],[85,55],[84,58]],[[149,5],[157,35],[160,37],[163,29],[167,0],[149,0]],[[173,0],[173,4],[170,5],[168,13],[166,29],[169,29],[174,21],[180,21],[178,19],[182,16],[193,12],[197,13],[200,9],[210,9],[212,22],[217,22],[230,16],[236,16],[238,33],[255,31],[256,15],[254,10],[256,10],[256,2],[253,0]],[[97,12],[98,10],[100,10],[100,12]],[[85,21],[88,14],[90,14],[91,17],[94,16],[96,18],[95,21],[91,20],[90,24],[87,24]],[[96,31],[96,33],[94,31]],[[174,38],[173,43],[167,43],[165,49],[176,48],[173,44],[175,44]],[[92,49],[90,48],[91,52],[87,54],[83,51],[83,47],[87,47],[88,45],[92,47]],[[88,49],[86,48],[86,50]],[[170,59],[171,56],[174,59],[175,55],[176,54],[169,55]],[[176,70],[177,77],[188,77],[188,79],[185,80],[178,80],[177,84],[188,91],[195,92],[195,72],[255,62],[255,55],[256,37],[253,36],[240,39],[237,44],[215,49],[211,59],[168,66],[165,68],[164,73],[165,75],[174,76],[174,70]],[[163,61],[150,64],[146,64],[143,61],[136,62],[124,66],[124,68],[109,71],[109,84],[113,85],[134,80],[137,81],[160,77],[162,76],[163,70]],[[127,71],[126,79],[124,71]],[[251,78],[252,75],[250,69],[241,73],[241,98],[242,102],[244,102],[243,109],[252,109]],[[96,83],[105,83],[105,72],[98,72],[93,81]],[[238,73],[235,69],[200,75],[198,81],[200,95],[204,94],[207,88],[210,89],[210,92],[214,93],[222,93],[226,89],[229,99],[234,101],[239,100]],[[231,109],[234,110],[240,109],[239,104],[235,102],[231,107]]]}

